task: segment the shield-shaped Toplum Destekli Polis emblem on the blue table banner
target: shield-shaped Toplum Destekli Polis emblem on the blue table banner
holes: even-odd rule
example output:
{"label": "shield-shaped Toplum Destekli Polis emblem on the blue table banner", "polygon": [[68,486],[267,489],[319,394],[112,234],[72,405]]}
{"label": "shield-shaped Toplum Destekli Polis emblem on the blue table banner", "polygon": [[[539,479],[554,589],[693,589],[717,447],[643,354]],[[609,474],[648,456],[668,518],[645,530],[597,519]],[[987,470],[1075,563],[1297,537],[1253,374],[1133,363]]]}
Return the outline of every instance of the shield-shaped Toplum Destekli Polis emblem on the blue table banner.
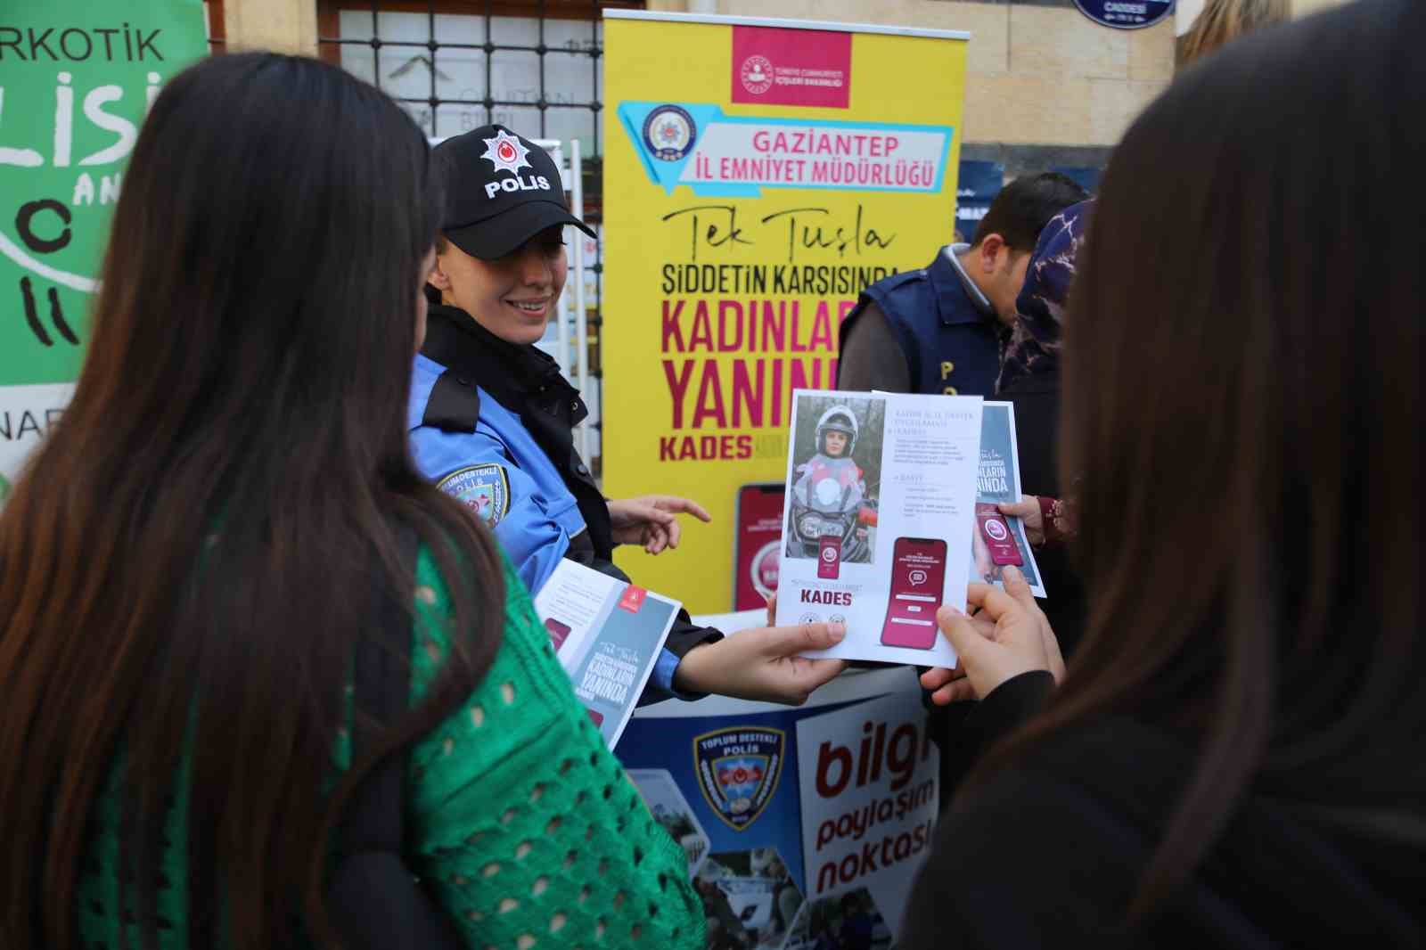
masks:
{"label": "shield-shaped Toplum Destekli Polis emblem on the blue table banner", "polygon": [[709,807],[734,832],[757,820],[777,790],[787,735],[732,726],[693,737],[693,767]]}

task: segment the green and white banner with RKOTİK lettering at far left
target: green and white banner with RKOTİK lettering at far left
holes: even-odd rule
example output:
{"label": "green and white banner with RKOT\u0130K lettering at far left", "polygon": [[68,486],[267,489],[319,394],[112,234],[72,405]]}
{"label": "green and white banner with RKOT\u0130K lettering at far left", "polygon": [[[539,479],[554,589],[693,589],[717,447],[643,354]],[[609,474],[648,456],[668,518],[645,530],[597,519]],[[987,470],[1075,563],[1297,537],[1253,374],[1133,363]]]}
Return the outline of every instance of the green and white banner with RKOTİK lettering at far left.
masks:
{"label": "green and white banner with RKOT\u0130K lettering at far left", "polygon": [[207,51],[201,0],[0,6],[0,501],[78,374],[138,126]]}

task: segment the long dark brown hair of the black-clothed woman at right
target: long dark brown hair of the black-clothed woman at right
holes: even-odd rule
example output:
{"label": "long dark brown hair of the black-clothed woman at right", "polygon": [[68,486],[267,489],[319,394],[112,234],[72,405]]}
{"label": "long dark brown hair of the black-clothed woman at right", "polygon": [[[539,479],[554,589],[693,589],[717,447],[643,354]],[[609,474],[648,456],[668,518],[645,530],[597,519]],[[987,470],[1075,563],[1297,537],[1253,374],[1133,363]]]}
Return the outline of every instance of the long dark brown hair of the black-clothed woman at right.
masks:
{"label": "long dark brown hair of the black-clothed woman at right", "polygon": [[1423,792],[1423,43],[1396,0],[1243,39],[1104,178],[1064,347],[1089,629],[987,766],[1115,715],[1191,743],[1138,919],[1249,786]]}

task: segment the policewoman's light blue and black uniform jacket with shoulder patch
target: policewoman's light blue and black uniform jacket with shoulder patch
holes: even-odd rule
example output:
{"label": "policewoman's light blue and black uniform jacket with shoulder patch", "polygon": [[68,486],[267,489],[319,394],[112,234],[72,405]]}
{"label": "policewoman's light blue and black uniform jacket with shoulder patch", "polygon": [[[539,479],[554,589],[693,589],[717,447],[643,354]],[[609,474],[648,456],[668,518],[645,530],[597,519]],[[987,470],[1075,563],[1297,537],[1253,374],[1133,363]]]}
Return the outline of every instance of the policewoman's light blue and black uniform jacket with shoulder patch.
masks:
{"label": "policewoman's light blue and black uniform jacket with shoulder patch", "polygon": [[[431,307],[411,385],[412,455],[495,532],[532,593],[560,558],[629,582],[613,563],[609,505],[575,451],[573,427],[586,415],[548,354],[501,339],[462,310]],[[680,612],[666,649],[683,656],[720,638]],[[656,668],[650,686],[660,679]]]}

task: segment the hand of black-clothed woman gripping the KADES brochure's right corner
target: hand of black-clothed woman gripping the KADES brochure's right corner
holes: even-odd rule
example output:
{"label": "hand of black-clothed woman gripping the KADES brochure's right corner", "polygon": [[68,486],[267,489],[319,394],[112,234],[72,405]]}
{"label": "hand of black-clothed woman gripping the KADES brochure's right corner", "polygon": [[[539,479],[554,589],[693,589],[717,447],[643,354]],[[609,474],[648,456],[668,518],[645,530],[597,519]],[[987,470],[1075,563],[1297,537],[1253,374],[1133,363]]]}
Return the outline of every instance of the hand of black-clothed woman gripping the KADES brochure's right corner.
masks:
{"label": "hand of black-clothed woman gripping the KADES brochure's right corner", "polygon": [[1021,673],[1044,669],[1061,682],[1065,662],[1050,620],[1035,603],[1025,576],[1015,568],[1004,571],[1005,589],[973,583],[965,589],[970,615],[941,608],[935,622],[955,648],[954,670],[931,669],[921,686],[934,689],[937,705],[957,699],[984,699],[997,686]]}

